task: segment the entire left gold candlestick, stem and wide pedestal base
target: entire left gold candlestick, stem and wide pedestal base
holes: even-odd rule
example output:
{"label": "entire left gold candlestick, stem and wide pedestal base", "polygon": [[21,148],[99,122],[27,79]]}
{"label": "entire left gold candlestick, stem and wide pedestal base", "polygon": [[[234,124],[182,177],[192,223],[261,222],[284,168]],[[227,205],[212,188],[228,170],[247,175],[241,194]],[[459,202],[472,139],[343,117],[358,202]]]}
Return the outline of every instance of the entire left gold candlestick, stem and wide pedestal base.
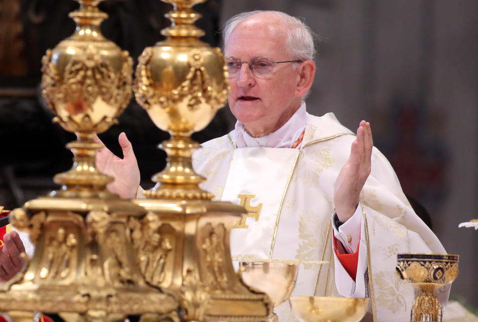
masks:
{"label": "entire left gold candlestick, stem and wide pedestal base", "polygon": [[[143,220],[146,211],[108,192],[113,178],[95,165],[102,145],[93,135],[106,131],[128,104],[132,61],[101,35],[107,14],[97,8],[100,0],[78,1],[80,8],[70,13],[76,31],[47,51],[42,69],[54,120],[77,132],[78,140],[68,145],[76,150],[74,165],[54,177],[60,190],[10,213],[36,249],[23,270],[0,284],[0,311],[13,321],[31,321],[36,311],[58,313],[67,322],[124,321],[127,315],[178,321],[178,301],[144,281],[134,256],[131,222]],[[147,260],[146,267],[161,262]]]}

